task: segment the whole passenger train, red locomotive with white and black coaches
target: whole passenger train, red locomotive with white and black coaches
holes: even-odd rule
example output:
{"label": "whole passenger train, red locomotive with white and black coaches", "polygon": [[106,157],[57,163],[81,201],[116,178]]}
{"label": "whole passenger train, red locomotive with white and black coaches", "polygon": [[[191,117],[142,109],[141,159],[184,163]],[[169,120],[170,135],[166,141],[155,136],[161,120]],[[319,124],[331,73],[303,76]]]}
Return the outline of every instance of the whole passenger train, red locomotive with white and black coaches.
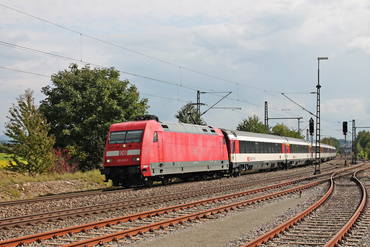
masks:
{"label": "whole passenger train, red locomotive with white and black coaches", "polygon": [[[320,143],[317,148],[322,162],[336,157],[333,146]],[[112,186],[150,187],[174,178],[239,176],[243,171],[287,169],[315,160],[316,150],[307,140],[145,115],[111,125],[100,173],[104,181],[112,180]]]}

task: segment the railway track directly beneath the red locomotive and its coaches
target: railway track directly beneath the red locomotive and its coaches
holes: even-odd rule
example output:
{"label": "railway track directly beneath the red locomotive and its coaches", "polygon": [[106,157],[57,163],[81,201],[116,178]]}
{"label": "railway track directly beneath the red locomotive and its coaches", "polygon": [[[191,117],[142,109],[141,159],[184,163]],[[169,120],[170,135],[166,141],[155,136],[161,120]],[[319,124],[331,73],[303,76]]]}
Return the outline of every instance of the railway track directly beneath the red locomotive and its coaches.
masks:
{"label": "railway track directly beneath the red locomotive and its coaches", "polygon": [[[343,160],[341,161],[343,162]],[[340,162],[340,163],[341,163]],[[325,169],[322,169],[323,171],[329,170],[332,167],[339,166],[340,163],[338,164],[333,164]],[[305,175],[304,173],[297,173],[297,176]],[[308,174],[308,173],[306,173]],[[253,174],[245,174],[243,176],[253,176]],[[228,178],[228,177],[224,177]],[[261,180],[262,181],[262,180]],[[186,182],[186,183],[196,183],[197,181],[191,181],[191,182]],[[256,181],[259,183],[259,180]],[[180,183],[180,182],[179,182]],[[179,183],[171,183],[173,184],[179,184]],[[182,184],[185,184],[184,182],[181,182]],[[154,186],[154,187],[159,187],[162,186],[161,184]],[[78,198],[78,197],[87,197],[87,196],[99,196],[102,194],[113,194],[113,193],[122,193],[126,191],[132,191],[132,190],[141,190],[141,189],[148,189],[147,187],[134,187],[134,188],[128,188],[128,189],[107,189],[107,190],[98,190],[98,191],[88,191],[88,192],[80,192],[80,193],[70,193],[70,194],[62,194],[62,195],[54,195],[54,196],[44,196],[44,197],[34,197],[34,198],[26,198],[26,199],[20,199],[20,200],[13,200],[13,201],[0,201],[0,207],[9,207],[9,206],[16,206],[16,205],[21,205],[21,204],[33,204],[33,203],[38,203],[38,202],[47,202],[47,201],[58,201],[58,200],[65,200],[65,199],[71,199],[71,198]]]}

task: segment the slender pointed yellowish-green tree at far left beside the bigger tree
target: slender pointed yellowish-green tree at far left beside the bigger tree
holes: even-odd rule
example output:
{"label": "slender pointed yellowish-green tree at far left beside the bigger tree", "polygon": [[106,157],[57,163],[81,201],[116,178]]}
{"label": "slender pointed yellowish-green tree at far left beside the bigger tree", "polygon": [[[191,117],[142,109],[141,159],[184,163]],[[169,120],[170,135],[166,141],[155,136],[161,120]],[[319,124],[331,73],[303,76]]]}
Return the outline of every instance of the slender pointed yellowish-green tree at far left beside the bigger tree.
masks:
{"label": "slender pointed yellowish-green tree at far left beside the bigger tree", "polygon": [[[34,104],[33,91],[27,89],[9,109],[9,122],[5,123],[9,143],[4,145],[9,163],[7,170],[35,176],[48,171],[55,158],[52,147],[54,136],[48,136],[50,124]],[[12,162],[13,161],[13,162]]]}

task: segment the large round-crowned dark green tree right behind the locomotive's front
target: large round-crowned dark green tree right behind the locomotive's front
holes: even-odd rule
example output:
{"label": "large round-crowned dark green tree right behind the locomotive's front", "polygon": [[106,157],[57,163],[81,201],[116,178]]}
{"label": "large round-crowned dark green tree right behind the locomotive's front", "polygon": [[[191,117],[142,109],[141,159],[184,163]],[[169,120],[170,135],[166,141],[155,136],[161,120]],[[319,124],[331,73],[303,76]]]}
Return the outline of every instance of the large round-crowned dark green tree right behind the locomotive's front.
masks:
{"label": "large round-crowned dark green tree right behind the locomotive's front", "polygon": [[114,68],[68,69],[51,76],[53,88],[43,87],[40,110],[51,123],[55,147],[67,148],[83,169],[102,163],[107,134],[113,123],[147,113],[148,99],[140,99],[135,85],[120,80]]}

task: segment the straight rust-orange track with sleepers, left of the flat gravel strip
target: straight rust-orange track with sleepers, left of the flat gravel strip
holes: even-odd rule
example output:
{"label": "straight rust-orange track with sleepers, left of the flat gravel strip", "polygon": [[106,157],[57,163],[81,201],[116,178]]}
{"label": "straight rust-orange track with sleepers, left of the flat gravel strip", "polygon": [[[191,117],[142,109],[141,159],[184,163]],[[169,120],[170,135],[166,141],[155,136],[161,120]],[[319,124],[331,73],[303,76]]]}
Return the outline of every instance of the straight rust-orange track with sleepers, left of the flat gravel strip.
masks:
{"label": "straight rust-orange track with sleepers, left of the flat gravel strip", "polygon": [[[125,243],[127,240],[122,239],[131,239],[132,236],[138,234],[151,234],[151,232],[158,229],[165,231],[166,229],[181,227],[194,220],[209,220],[217,217],[218,214],[227,213],[229,210],[242,210],[258,201],[270,200],[287,193],[327,183],[330,180],[330,178],[312,179],[317,181],[300,180],[296,181],[296,184],[287,183],[279,188],[276,185],[269,188],[265,187],[253,194],[250,191],[244,191],[47,233],[5,240],[1,241],[0,245],[11,247],[37,242],[46,246],[65,245],[72,247],[102,245],[110,241]],[[30,244],[30,246],[33,246],[33,244]]]}

